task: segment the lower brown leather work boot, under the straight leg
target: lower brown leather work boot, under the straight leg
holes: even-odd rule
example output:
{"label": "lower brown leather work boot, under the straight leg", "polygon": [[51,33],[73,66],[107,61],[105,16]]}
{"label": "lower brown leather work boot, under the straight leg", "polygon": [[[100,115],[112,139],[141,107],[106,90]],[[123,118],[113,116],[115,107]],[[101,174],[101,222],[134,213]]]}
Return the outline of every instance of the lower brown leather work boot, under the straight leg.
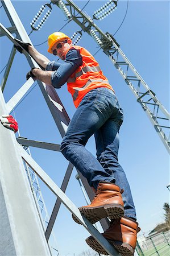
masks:
{"label": "lower brown leather work boot, under the straight leg", "polygon": [[[119,220],[111,221],[109,229],[102,233],[102,235],[111,243],[111,245],[114,245],[118,253],[132,256],[134,255],[137,233],[139,231],[140,228],[138,227],[138,222],[133,221],[128,217],[122,217]],[[86,239],[86,243],[98,253],[108,255],[92,236]]]}

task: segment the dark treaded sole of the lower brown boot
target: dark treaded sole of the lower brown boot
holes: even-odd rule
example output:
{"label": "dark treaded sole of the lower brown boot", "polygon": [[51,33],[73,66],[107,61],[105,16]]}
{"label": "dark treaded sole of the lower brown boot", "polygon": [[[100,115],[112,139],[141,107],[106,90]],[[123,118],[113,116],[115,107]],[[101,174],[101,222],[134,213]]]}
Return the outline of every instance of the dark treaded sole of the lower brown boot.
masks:
{"label": "dark treaded sole of the lower brown boot", "polygon": [[[123,256],[133,256],[134,255],[134,249],[128,243],[122,243],[119,241],[110,241],[110,240],[107,240],[107,241],[110,242],[111,245],[113,245],[115,247],[115,249],[118,251],[118,253],[121,253],[121,255],[123,255]],[[88,245],[93,250],[97,251],[97,253],[101,253],[103,255],[109,255],[107,253],[107,251],[105,251],[105,249],[103,249],[103,247],[101,245],[99,245],[99,243],[93,237],[87,238],[86,243],[88,243]]]}

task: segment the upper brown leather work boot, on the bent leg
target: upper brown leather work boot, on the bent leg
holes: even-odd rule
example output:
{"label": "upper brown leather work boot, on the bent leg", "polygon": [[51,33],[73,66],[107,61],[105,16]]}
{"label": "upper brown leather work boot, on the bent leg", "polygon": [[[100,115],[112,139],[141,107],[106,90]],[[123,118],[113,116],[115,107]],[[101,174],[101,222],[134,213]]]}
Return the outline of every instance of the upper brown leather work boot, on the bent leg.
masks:
{"label": "upper brown leather work boot, on the bent leg", "polygon": [[[78,209],[92,224],[101,218],[121,218],[124,214],[121,193],[123,193],[123,189],[120,190],[117,185],[100,181],[92,203]],[[74,216],[73,220],[80,224]]]}

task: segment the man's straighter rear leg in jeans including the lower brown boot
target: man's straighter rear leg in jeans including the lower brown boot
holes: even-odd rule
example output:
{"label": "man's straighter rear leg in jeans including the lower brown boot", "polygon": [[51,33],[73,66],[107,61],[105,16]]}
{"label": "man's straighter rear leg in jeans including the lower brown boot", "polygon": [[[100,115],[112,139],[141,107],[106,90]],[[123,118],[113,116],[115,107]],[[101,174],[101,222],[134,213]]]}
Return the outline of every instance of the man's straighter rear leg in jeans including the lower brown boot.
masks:
{"label": "man's straighter rear leg in jeans including the lower brown boot", "polygon": [[[109,229],[102,235],[111,245],[117,248],[119,253],[132,256],[134,255],[136,237],[140,228],[138,222],[135,221],[136,213],[130,186],[128,185],[125,172],[118,162],[119,127],[122,121],[123,112],[117,102],[113,115],[95,133],[98,161],[107,173],[115,177],[115,184],[124,190],[122,197],[125,216],[117,220],[112,220]],[[92,236],[88,237],[86,242],[98,253],[107,255],[106,251]]]}

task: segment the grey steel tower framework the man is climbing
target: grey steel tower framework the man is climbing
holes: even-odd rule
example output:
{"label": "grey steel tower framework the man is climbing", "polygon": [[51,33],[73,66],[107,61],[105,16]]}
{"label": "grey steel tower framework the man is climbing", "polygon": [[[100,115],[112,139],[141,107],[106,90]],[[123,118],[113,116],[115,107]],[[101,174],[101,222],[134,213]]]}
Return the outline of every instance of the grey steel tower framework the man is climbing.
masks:
{"label": "grey steel tower framework the man is climbing", "polygon": [[[1,36],[6,35],[7,38],[11,40],[16,46],[18,45],[14,39],[14,36],[9,32],[13,31],[16,33],[17,38],[23,40],[24,42],[30,42],[31,40],[28,37],[26,31],[24,30],[23,24],[20,21],[12,3],[10,1],[2,1],[2,5],[5,8],[6,14],[9,17],[11,22],[11,28],[7,30],[3,24],[0,24],[1,28]],[[27,57],[28,63],[31,67],[38,67],[39,65],[35,62],[34,59],[26,51],[23,51],[24,55]],[[9,62],[6,67],[5,75],[2,80],[2,88],[5,87],[5,83],[7,80],[7,76],[9,75],[11,64],[13,62],[15,55],[15,48],[13,47],[10,55]],[[11,110],[18,104],[21,98],[26,94],[27,90],[31,88],[34,80],[30,78],[19,90],[15,93],[15,95],[9,100],[9,102],[5,102],[3,98],[2,91],[0,90],[0,115],[1,114],[9,114]],[[67,129],[69,123],[69,117],[64,109],[63,104],[60,101],[59,96],[57,96],[56,90],[52,86],[45,85],[43,82],[38,81],[40,89],[42,90],[43,96],[53,119],[60,131],[61,136],[63,137],[65,134],[65,130]],[[86,230],[89,231],[90,234],[99,242],[99,244],[107,251],[109,255],[119,255],[113,246],[94,228],[94,226],[85,218],[82,217],[77,207],[72,203],[71,200],[65,195],[63,191],[65,191],[69,177],[71,176],[71,172],[73,169],[72,164],[69,164],[67,168],[67,172],[65,174],[63,184],[61,185],[61,189],[57,187],[57,185],[53,182],[53,180],[45,173],[45,171],[35,162],[34,159],[24,150],[22,146],[16,141],[15,135],[12,131],[4,129],[3,126],[0,126],[1,134],[2,134],[2,165],[1,165],[1,188],[0,196],[4,201],[3,214],[5,212],[5,229],[2,229],[0,238],[3,237],[3,243],[1,243],[1,251],[4,251],[6,254],[44,254],[51,255],[51,251],[48,246],[48,239],[51,233],[47,230],[44,234],[44,230],[42,228],[35,201],[31,195],[30,185],[28,180],[26,180],[27,175],[24,171],[23,160],[32,170],[34,170],[35,174],[40,177],[40,179],[48,186],[48,188],[57,196],[57,200],[62,202],[67,209],[76,216],[78,221],[84,226]],[[20,139],[21,140],[21,139]],[[19,139],[18,139],[19,141]],[[44,143],[44,142],[35,142],[30,140],[25,140],[20,143],[26,144],[27,146],[31,146],[34,144],[38,147],[48,148],[50,150],[59,151],[59,145],[52,143]],[[13,155],[12,158],[9,158],[9,154]],[[13,168],[12,168],[13,167]],[[80,174],[81,175],[81,174]],[[82,178],[82,183],[88,192],[90,197],[93,197],[92,189],[89,187],[86,179]],[[16,187],[16,183],[19,184]],[[8,189],[7,189],[8,188]],[[26,192],[27,191],[27,192]],[[20,199],[18,201],[18,199]],[[16,203],[18,202],[18,203]],[[24,204],[27,202],[27,204]],[[60,207],[60,203],[57,203],[57,210]],[[16,209],[17,206],[21,205],[22,210]],[[29,209],[29,212],[28,212]],[[23,217],[24,214],[24,217]],[[32,218],[29,218],[32,214]],[[0,212],[0,217],[2,217],[2,212]],[[53,215],[53,222],[56,218],[56,212]],[[29,220],[28,220],[29,219]],[[29,222],[29,229],[26,230],[26,223]],[[107,221],[104,220],[105,226],[107,226]],[[17,227],[17,232],[15,230]],[[6,230],[9,230],[11,234],[10,246],[9,241],[5,236]],[[52,228],[51,228],[52,229]],[[24,236],[23,236],[24,232]],[[22,239],[19,239],[22,237]],[[5,239],[6,238],[6,239]],[[29,246],[31,244],[31,246]],[[8,246],[7,246],[8,245]]]}

